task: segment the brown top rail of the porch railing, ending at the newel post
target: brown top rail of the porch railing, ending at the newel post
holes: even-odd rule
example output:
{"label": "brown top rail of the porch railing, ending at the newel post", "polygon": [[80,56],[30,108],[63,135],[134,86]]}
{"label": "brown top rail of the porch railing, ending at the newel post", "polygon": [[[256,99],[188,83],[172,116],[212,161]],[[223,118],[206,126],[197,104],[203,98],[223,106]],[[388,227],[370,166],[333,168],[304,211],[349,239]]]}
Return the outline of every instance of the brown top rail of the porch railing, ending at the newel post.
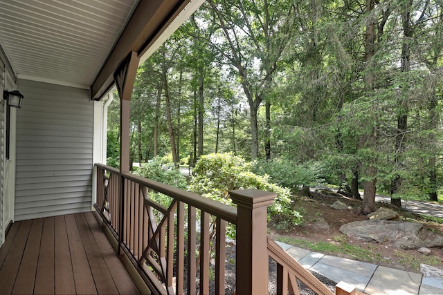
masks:
{"label": "brown top rail of the porch railing, ending at the newel post", "polygon": [[[118,169],[106,166],[104,164],[96,164],[96,166],[108,171],[112,171],[113,173],[120,174],[120,171]],[[163,193],[176,200],[185,202],[186,204],[190,204],[192,207],[201,209],[213,216],[217,216],[223,220],[233,223],[234,225],[237,224],[237,208],[235,207],[228,206],[227,204],[223,204],[215,200],[204,198],[202,196],[199,196],[197,193],[184,191],[182,189],[178,189],[177,187],[172,187],[168,184],[149,180],[147,178],[143,178],[131,173],[123,173],[122,175],[124,178],[132,180],[134,182],[138,182],[139,184],[143,184],[145,187],[153,189],[154,191],[158,191],[159,193]]]}

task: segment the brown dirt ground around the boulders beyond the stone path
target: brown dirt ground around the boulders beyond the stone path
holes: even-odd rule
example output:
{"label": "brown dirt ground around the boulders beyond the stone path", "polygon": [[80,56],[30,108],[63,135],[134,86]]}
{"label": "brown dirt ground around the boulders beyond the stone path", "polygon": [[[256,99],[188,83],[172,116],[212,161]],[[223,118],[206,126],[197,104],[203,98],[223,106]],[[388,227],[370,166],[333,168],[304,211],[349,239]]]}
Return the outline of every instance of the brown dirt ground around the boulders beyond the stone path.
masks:
{"label": "brown dirt ground around the boulders beyond the stone path", "polygon": [[[331,205],[337,200],[341,200],[352,209],[337,210],[333,209]],[[343,251],[329,252],[324,251],[325,254],[331,254],[334,256],[340,256],[355,260],[360,260],[368,263],[374,263],[377,265],[383,265],[386,267],[392,267],[397,269],[403,269],[411,272],[419,272],[420,263],[430,264],[440,269],[443,269],[443,249],[433,247],[431,249],[431,255],[426,256],[417,251],[417,249],[399,249],[388,245],[388,243],[377,242],[363,242],[352,238],[347,238],[338,229],[341,225],[349,222],[368,219],[361,214],[361,202],[359,200],[353,200],[345,198],[344,196],[337,196],[336,194],[325,196],[325,192],[311,193],[311,197],[298,197],[296,200],[295,209],[300,211],[304,216],[304,223],[301,226],[296,227],[291,231],[278,231],[271,227],[271,237],[278,240],[278,237],[289,237],[300,240],[307,240],[311,242],[327,242],[334,245],[354,245],[361,249],[368,249],[365,251],[369,255],[357,255],[349,256],[344,250],[345,247],[341,247]],[[388,207],[393,209],[390,204],[377,203],[378,207]],[[399,211],[399,215],[408,221],[417,220],[422,222],[425,230],[431,230],[443,234],[443,225],[435,222],[426,222],[419,216],[396,209]],[[329,229],[316,229],[313,226],[315,220],[318,218],[324,218],[329,224]],[[413,220],[411,220],[412,218]],[[301,246],[300,246],[301,247]],[[316,250],[318,251],[318,250]]]}

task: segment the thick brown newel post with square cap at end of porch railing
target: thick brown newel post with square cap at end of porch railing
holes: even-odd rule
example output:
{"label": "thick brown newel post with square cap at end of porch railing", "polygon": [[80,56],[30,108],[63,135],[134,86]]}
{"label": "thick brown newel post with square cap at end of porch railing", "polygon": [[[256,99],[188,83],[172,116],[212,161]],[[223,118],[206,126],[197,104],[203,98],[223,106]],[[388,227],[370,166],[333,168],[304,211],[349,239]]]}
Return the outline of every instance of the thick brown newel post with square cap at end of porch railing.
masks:
{"label": "thick brown newel post with square cap at end of porch railing", "polygon": [[237,204],[236,294],[268,294],[267,214],[276,193],[230,191]]}

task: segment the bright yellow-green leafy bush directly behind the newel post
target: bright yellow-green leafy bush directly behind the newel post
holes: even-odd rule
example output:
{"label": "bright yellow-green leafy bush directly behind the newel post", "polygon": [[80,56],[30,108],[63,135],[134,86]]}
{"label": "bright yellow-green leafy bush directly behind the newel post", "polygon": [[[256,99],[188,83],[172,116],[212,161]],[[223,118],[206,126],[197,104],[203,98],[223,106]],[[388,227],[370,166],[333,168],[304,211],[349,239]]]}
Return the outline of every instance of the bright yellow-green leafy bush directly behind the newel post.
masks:
{"label": "bright yellow-green leafy bush directly behind the newel post", "polygon": [[252,164],[233,153],[203,155],[195,164],[190,191],[224,204],[233,205],[228,191],[233,189],[260,189],[277,193],[268,209],[269,219],[285,224],[286,229],[300,224],[302,216],[291,208],[290,189],[271,183],[269,175],[251,172]]}

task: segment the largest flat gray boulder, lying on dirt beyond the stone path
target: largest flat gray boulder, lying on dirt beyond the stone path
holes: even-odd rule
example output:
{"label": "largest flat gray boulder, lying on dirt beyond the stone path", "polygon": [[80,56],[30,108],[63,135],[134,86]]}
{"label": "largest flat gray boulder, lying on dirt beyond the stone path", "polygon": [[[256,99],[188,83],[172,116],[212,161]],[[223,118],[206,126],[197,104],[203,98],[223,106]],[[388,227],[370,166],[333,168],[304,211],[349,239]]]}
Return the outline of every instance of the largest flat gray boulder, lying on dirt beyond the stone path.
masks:
{"label": "largest flat gray boulder, lying on dirt beyond the stone path", "polygon": [[419,237],[422,225],[415,222],[397,222],[392,220],[362,220],[347,223],[340,231],[347,236],[360,240],[390,242],[403,249],[426,247]]}

